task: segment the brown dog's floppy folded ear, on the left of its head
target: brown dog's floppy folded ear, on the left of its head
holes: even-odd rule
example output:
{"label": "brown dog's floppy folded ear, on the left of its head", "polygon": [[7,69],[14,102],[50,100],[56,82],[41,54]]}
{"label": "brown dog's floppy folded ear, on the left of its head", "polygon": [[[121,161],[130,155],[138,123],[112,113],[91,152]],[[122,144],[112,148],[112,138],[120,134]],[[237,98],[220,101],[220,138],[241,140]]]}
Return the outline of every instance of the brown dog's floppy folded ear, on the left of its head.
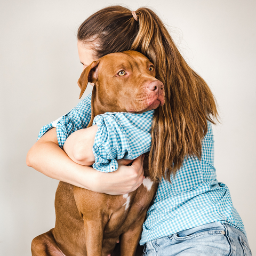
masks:
{"label": "brown dog's floppy folded ear, on the left of its head", "polygon": [[88,83],[95,83],[98,79],[98,65],[99,65],[99,60],[98,61],[93,61],[88,67],[86,67],[80,78],[78,79],[78,86],[81,89],[81,93],[79,95],[79,99],[81,99]]}

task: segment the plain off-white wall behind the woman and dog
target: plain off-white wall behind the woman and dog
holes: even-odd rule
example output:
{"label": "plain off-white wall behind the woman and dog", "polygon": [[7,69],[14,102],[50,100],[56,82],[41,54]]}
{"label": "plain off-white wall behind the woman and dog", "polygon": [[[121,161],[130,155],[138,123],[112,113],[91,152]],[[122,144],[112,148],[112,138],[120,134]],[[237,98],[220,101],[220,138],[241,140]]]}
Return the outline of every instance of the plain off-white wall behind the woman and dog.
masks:
{"label": "plain off-white wall behind the woman and dog", "polygon": [[229,187],[256,253],[254,0],[1,0],[0,254],[29,255],[31,240],[54,227],[58,181],[28,167],[26,154],[43,125],[78,103],[78,26],[114,4],[153,8],[211,87],[221,117],[214,128],[218,180]]}

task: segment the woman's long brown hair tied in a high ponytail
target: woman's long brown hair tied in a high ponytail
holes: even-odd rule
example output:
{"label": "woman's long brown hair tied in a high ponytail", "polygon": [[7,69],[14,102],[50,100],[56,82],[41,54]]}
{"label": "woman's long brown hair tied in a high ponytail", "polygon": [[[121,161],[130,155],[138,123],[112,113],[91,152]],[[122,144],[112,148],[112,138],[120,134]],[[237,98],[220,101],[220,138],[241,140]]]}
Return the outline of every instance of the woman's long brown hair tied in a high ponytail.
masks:
{"label": "woman's long brown hair tied in a high ponytail", "polygon": [[182,58],[158,16],[146,7],[135,14],[138,21],[125,7],[106,7],[82,23],[77,39],[94,42],[97,58],[134,50],[154,63],[156,78],[164,84],[165,104],[153,118],[149,172],[155,180],[170,181],[188,156],[201,158],[207,120],[215,124],[217,107],[209,86]]}

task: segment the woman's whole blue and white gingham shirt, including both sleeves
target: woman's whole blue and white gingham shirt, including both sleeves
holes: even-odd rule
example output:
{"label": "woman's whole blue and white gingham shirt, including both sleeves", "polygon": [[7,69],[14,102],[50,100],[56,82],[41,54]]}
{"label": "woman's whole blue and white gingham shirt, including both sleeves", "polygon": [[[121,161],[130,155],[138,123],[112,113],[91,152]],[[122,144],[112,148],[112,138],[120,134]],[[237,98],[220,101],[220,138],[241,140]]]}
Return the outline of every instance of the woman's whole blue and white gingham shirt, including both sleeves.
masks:
{"label": "woman's whole blue and white gingham shirt, including both sleeves", "polygon": [[[117,169],[115,158],[134,159],[150,149],[150,127],[154,111],[143,114],[106,113],[94,118],[98,131],[93,152],[95,169]],[[52,127],[57,128],[62,148],[67,137],[87,127],[91,118],[91,94],[76,108],[39,132],[39,138]],[[159,183],[153,204],[143,223],[140,244],[175,234],[181,230],[219,221],[237,227],[245,234],[244,225],[231,201],[228,187],[218,182],[214,161],[214,140],[211,123],[203,139],[202,158],[188,157],[183,166],[171,175],[171,183]]]}

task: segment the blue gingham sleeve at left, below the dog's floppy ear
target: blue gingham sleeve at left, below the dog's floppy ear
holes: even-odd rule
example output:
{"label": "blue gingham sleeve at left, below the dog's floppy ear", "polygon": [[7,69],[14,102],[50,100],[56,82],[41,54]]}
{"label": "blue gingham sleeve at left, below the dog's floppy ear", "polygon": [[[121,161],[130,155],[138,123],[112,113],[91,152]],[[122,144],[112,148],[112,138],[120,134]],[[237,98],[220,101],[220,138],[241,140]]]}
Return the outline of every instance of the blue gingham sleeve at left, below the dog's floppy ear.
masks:
{"label": "blue gingham sleeve at left, below the dog's floppy ear", "polygon": [[60,148],[63,147],[68,136],[80,129],[86,128],[91,119],[91,93],[87,95],[78,105],[71,109],[66,115],[42,127],[38,139],[47,131],[56,127]]}

